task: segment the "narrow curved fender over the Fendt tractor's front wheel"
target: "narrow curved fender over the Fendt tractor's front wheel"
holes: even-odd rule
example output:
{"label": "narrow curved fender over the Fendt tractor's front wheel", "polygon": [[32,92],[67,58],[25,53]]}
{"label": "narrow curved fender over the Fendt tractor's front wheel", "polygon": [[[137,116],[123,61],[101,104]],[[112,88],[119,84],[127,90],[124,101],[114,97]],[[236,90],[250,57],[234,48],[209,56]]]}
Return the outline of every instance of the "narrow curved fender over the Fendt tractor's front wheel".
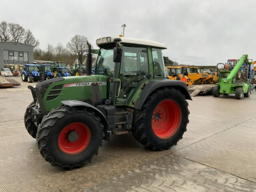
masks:
{"label": "narrow curved fender over the Fendt tractor's front wheel", "polygon": [[100,116],[100,119],[102,120],[103,124],[104,124],[104,134],[105,137],[103,138],[104,140],[110,141],[110,132],[109,132],[109,124],[108,121],[106,119],[106,117],[104,116],[104,114],[98,110],[96,107],[86,103],[86,102],[82,102],[82,101],[77,101],[77,100],[66,100],[66,101],[61,101],[62,104],[70,106],[70,107],[76,107],[76,106],[84,106],[86,108],[91,108],[92,110],[94,110],[95,113],[97,113]]}

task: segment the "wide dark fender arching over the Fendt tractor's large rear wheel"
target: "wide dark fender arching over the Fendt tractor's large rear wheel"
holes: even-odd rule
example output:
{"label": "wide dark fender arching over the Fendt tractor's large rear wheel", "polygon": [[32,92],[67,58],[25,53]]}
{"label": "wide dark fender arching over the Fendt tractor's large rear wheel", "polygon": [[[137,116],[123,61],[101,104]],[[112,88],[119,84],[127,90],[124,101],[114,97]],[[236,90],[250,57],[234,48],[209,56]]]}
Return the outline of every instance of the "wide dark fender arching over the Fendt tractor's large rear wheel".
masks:
{"label": "wide dark fender arching over the Fendt tractor's large rear wheel", "polygon": [[149,83],[146,84],[146,86],[143,88],[140,97],[136,101],[136,104],[134,106],[135,109],[140,110],[148,98],[148,96],[156,89],[161,87],[174,87],[185,96],[186,99],[192,100],[188,88],[186,84],[183,81],[177,81],[177,80],[152,80]]}

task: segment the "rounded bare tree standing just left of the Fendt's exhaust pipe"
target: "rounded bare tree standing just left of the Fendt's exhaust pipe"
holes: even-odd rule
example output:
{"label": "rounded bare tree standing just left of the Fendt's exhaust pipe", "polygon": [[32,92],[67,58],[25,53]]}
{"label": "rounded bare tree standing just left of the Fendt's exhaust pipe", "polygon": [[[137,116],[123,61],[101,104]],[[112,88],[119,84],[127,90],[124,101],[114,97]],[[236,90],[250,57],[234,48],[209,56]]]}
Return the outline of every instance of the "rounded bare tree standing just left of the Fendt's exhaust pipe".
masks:
{"label": "rounded bare tree standing just left of the Fendt's exhaust pipe", "polygon": [[87,38],[81,35],[75,35],[71,38],[70,42],[67,43],[67,48],[70,54],[77,55],[79,59],[80,50],[88,50],[88,46],[86,44]]}

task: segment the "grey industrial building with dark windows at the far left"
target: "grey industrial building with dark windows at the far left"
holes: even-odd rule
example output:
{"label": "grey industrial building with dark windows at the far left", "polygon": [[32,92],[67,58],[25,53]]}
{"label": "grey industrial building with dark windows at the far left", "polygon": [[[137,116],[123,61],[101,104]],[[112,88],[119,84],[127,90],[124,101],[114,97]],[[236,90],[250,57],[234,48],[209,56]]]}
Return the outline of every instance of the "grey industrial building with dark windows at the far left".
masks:
{"label": "grey industrial building with dark windows at the far left", "polygon": [[23,64],[34,61],[34,46],[20,42],[0,42],[0,68],[23,70]]}

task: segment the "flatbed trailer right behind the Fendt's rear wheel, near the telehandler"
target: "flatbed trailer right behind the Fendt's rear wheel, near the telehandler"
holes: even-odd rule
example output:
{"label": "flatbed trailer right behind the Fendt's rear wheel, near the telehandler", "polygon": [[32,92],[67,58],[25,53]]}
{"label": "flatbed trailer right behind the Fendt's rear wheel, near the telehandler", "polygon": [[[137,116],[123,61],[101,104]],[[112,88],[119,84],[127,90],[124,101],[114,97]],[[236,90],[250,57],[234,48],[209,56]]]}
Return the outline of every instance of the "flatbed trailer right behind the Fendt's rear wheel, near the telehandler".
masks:
{"label": "flatbed trailer right behind the Fendt's rear wheel, near the telehandler", "polygon": [[218,85],[216,84],[200,84],[200,85],[190,85],[188,86],[188,91],[191,97],[198,94],[212,94],[212,89]]}

